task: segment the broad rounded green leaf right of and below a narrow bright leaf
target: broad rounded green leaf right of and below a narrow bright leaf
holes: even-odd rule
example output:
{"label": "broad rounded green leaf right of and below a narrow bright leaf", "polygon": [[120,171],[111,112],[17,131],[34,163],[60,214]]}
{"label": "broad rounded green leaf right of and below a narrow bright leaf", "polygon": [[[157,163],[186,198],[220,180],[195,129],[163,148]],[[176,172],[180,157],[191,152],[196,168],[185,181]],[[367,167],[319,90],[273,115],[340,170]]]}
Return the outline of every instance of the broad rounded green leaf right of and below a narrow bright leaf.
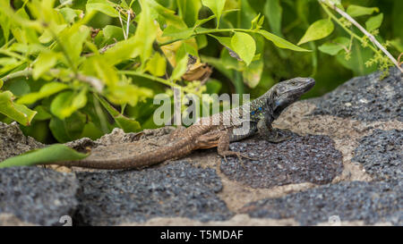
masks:
{"label": "broad rounded green leaf right of and below a narrow bright leaf", "polygon": [[64,120],[86,104],[87,89],[82,89],[77,96],[73,91],[64,91],[53,99],[50,104],[50,112],[59,119]]}

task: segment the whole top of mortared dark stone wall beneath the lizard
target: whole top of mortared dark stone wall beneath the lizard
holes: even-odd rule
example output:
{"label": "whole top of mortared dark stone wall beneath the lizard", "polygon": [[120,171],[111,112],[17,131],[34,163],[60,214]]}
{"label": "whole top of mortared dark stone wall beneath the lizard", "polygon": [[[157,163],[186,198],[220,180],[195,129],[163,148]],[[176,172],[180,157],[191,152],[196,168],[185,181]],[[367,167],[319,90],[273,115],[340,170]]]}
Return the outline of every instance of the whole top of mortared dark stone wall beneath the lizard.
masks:
{"label": "whole top of mortared dark stone wall beneath the lizard", "polygon": [[[340,225],[403,225],[402,75],[390,73],[290,105],[273,122],[290,139],[231,143],[259,157],[244,164],[211,148],[141,171],[2,169],[0,225],[58,224],[61,215],[78,225],[332,225],[334,217]],[[67,145],[120,158],[164,146],[172,130],[116,129]],[[0,160],[37,147],[16,124],[0,123]]]}

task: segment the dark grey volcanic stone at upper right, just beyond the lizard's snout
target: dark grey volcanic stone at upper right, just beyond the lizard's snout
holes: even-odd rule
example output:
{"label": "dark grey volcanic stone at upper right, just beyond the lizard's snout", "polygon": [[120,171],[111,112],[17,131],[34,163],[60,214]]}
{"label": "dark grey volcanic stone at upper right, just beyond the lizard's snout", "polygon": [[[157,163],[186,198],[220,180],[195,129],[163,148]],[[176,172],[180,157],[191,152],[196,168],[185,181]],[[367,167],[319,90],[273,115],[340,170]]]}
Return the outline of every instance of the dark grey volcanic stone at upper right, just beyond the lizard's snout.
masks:
{"label": "dark grey volcanic stone at upper right, just beyond the lizard's snout", "polygon": [[313,114],[351,117],[359,121],[403,122],[403,74],[395,67],[380,80],[382,72],[348,80],[321,98],[312,99]]}

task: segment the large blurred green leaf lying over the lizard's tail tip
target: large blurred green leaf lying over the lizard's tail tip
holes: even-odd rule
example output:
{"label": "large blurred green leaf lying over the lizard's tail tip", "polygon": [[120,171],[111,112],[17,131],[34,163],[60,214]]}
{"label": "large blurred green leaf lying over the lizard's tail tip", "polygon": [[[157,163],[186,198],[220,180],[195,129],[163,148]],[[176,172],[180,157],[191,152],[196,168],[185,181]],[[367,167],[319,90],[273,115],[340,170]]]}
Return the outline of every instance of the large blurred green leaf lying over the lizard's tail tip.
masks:
{"label": "large blurred green leaf lying over the lizard's tail tip", "polygon": [[73,148],[62,144],[55,144],[41,149],[31,150],[20,156],[5,159],[0,163],[0,168],[52,164],[60,161],[79,160],[87,156],[89,156],[89,154],[81,154]]}

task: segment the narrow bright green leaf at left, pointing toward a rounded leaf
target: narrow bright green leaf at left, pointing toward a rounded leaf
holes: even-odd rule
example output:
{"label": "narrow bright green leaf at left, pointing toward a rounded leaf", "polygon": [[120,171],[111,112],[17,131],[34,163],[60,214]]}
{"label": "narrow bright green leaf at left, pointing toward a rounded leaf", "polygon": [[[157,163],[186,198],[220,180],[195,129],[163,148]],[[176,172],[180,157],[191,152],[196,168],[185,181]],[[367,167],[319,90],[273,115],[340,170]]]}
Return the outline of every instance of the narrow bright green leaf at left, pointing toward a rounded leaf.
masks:
{"label": "narrow bright green leaf at left, pointing toward a rounded leaf", "polygon": [[22,96],[20,99],[17,100],[17,103],[21,105],[30,105],[35,103],[39,99],[42,99],[44,97],[50,97],[66,88],[69,88],[69,86],[67,86],[64,83],[56,81],[50,82],[45,84],[42,88],[40,88],[39,92],[33,92]]}

